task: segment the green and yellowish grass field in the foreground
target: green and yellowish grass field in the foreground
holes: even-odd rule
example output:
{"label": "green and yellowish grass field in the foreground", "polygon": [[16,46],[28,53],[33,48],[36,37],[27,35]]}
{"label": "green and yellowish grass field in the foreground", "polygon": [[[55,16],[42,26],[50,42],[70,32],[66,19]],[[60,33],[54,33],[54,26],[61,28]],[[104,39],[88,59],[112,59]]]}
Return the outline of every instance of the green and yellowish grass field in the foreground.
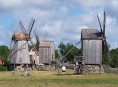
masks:
{"label": "green and yellowish grass field in the foreground", "polygon": [[[55,71],[0,72],[0,87],[118,87],[118,74],[61,75]],[[72,74],[68,70],[66,74]]]}

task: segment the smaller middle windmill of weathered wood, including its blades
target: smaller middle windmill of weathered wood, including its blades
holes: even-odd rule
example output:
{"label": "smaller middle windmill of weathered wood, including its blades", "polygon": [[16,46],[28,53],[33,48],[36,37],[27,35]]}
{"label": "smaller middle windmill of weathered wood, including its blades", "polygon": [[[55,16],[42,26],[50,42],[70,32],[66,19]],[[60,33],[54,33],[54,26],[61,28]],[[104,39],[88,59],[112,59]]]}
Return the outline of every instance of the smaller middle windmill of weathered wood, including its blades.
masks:
{"label": "smaller middle windmill of weathered wood, including its blades", "polygon": [[38,35],[35,33],[36,51],[39,55],[39,64],[51,64],[55,61],[54,41],[45,40],[46,35],[47,32],[45,32],[42,39],[39,40]]}

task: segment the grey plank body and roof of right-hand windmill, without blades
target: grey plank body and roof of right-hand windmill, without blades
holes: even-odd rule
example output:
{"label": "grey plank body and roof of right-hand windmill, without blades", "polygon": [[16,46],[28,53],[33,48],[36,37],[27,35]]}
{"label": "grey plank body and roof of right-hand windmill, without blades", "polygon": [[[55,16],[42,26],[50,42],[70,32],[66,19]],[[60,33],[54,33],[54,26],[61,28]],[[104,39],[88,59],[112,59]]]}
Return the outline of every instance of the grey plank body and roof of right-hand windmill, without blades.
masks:
{"label": "grey plank body and roof of right-hand windmill, without blades", "polygon": [[102,36],[96,29],[82,29],[84,64],[102,64]]}

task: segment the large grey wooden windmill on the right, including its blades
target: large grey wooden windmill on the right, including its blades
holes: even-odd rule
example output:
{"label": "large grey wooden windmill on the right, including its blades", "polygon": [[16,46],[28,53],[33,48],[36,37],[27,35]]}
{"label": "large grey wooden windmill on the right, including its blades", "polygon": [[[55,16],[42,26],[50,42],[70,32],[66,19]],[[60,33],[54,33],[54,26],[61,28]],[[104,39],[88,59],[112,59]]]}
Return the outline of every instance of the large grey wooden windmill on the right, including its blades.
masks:
{"label": "large grey wooden windmill on the right, including its blades", "polygon": [[[97,29],[82,29],[81,31],[81,41],[82,41],[82,53],[83,53],[83,64],[86,65],[86,69],[102,66],[102,57],[105,51],[108,51],[108,46],[105,36],[105,24],[106,15],[104,12],[103,26],[101,26],[99,16],[98,21],[100,25],[100,31]],[[99,67],[98,67],[99,70]],[[90,70],[88,70],[90,71]],[[92,71],[92,73],[94,73]]]}

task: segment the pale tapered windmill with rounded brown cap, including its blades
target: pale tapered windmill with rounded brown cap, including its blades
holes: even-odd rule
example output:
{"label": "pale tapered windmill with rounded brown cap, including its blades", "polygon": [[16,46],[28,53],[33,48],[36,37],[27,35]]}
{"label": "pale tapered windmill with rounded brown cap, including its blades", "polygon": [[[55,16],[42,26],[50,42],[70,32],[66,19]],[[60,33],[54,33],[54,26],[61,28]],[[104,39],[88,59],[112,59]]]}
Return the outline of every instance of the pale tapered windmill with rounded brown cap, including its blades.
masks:
{"label": "pale tapered windmill with rounded brown cap, including its blades", "polygon": [[28,51],[28,41],[31,40],[30,34],[35,20],[32,18],[28,29],[26,30],[22,22],[19,21],[22,32],[16,32],[12,35],[13,47],[9,55],[10,64],[31,64]]}

